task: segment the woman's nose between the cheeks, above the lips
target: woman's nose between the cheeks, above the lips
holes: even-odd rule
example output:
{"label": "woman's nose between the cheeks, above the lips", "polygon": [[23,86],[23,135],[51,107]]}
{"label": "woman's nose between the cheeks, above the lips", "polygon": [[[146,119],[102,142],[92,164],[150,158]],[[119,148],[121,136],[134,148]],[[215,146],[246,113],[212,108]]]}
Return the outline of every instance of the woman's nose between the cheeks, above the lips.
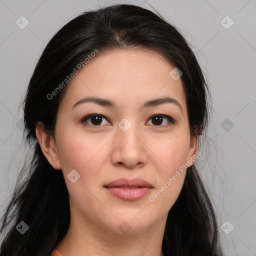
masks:
{"label": "woman's nose between the cheeks, above the lips", "polygon": [[135,127],[123,131],[117,127],[113,137],[113,151],[111,161],[113,165],[124,165],[127,168],[142,167],[147,162],[147,146],[143,141],[142,133]]}

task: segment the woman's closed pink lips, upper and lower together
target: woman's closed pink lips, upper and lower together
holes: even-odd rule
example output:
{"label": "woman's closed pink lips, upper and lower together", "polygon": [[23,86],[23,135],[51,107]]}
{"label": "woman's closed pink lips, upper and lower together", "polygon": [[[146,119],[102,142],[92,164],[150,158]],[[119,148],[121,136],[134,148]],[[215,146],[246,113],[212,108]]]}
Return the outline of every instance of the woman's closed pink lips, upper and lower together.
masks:
{"label": "woman's closed pink lips, upper and lower together", "polygon": [[141,178],[119,178],[104,185],[111,195],[125,200],[134,201],[148,194],[153,186]]}

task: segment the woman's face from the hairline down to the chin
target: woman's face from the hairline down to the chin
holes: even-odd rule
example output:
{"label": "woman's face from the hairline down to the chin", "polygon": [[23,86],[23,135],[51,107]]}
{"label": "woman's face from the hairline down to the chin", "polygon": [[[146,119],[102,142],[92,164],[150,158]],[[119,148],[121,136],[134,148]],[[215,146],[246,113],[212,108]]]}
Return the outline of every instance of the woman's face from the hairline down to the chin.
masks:
{"label": "woman's face from the hairline down to the chin", "polygon": [[[151,50],[105,51],[65,88],[49,161],[62,170],[80,223],[135,233],[166,220],[197,152],[181,79],[169,75],[174,67]],[[105,187],[118,178],[151,187]]]}

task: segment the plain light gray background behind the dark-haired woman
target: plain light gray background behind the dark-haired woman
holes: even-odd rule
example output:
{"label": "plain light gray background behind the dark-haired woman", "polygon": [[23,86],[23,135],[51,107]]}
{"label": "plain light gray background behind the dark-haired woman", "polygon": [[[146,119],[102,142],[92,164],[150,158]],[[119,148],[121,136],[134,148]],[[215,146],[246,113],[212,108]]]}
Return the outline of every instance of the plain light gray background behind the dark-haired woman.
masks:
{"label": "plain light gray background behind the dark-haired woman", "polygon": [[[155,8],[191,44],[212,94],[197,166],[222,226],[224,255],[256,255],[255,0],[0,0],[1,214],[24,159],[19,104],[43,48],[68,20],[113,3]],[[29,21],[24,29],[15,23],[21,15]]]}

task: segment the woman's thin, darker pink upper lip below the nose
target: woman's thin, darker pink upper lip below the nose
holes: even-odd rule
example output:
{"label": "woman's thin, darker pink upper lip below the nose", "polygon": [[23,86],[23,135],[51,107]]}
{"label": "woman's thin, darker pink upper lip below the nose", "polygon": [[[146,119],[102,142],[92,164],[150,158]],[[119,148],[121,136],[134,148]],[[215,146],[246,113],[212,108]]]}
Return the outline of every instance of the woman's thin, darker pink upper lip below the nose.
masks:
{"label": "woman's thin, darker pink upper lip below the nose", "polygon": [[117,178],[110,183],[104,185],[105,187],[120,187],[120,186],[139,186],[139,187],[153,187],[150,183],[146,182],[142,178]]}

